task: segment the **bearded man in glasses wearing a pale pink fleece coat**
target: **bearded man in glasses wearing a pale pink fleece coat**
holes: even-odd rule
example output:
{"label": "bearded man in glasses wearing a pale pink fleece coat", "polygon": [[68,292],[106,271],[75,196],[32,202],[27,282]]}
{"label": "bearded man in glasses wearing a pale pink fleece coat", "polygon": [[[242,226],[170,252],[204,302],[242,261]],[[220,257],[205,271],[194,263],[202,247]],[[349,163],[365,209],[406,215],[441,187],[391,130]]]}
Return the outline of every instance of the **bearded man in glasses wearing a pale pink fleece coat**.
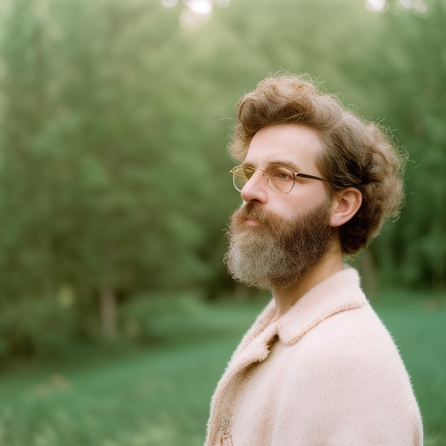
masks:
{"label": "bearded man in glasses wearing a pale pink fleece coat", "polygon": [[408,373],[344,256],[395,217],[403,159],[306,78],[237,105],[229,272],[271,289],[212,398],[206,445],[422,445]]}

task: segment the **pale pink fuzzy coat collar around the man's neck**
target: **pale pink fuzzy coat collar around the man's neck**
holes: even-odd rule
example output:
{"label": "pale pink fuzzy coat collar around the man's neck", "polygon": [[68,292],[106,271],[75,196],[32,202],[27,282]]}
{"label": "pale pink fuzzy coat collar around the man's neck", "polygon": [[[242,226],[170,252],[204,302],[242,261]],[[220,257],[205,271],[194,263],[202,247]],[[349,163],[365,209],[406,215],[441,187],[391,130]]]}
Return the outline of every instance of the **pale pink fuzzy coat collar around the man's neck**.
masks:
{"label": "pale pink fuzzy coat collar around the man's neck", "polygon": [[264,361],[269,355],[271,343],[276,339],[292,345],[330,316],[359,308],[366,302],[358,273],[353,268],[333,274],[314,286],[284,316],[270,325],[276,311],[273,299],[242,339],[229,368],[231,363],[233,366],[237,364],[244,367],[249,363]]}

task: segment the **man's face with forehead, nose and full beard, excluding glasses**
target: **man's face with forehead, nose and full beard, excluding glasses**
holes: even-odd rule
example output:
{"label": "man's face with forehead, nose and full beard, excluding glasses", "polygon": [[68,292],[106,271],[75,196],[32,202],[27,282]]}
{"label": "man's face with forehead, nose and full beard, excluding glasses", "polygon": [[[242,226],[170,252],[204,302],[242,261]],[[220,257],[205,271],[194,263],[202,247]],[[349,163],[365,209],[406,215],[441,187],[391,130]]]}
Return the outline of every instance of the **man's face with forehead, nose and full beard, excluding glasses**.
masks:
{"label": "man's face with forehead, nose and full beard, excluding glasses", "polygon": [[[318,134],[299,125],[259,130],[244,165],[271,164],[321,176]],[[256,170],[242,190],[244,204],[231,219],[225,261],[234,279],[262,289],[288,288],[308,274],[333,246],[331,201],[322,181],[296,178],[288,194],[271,190]]]}

